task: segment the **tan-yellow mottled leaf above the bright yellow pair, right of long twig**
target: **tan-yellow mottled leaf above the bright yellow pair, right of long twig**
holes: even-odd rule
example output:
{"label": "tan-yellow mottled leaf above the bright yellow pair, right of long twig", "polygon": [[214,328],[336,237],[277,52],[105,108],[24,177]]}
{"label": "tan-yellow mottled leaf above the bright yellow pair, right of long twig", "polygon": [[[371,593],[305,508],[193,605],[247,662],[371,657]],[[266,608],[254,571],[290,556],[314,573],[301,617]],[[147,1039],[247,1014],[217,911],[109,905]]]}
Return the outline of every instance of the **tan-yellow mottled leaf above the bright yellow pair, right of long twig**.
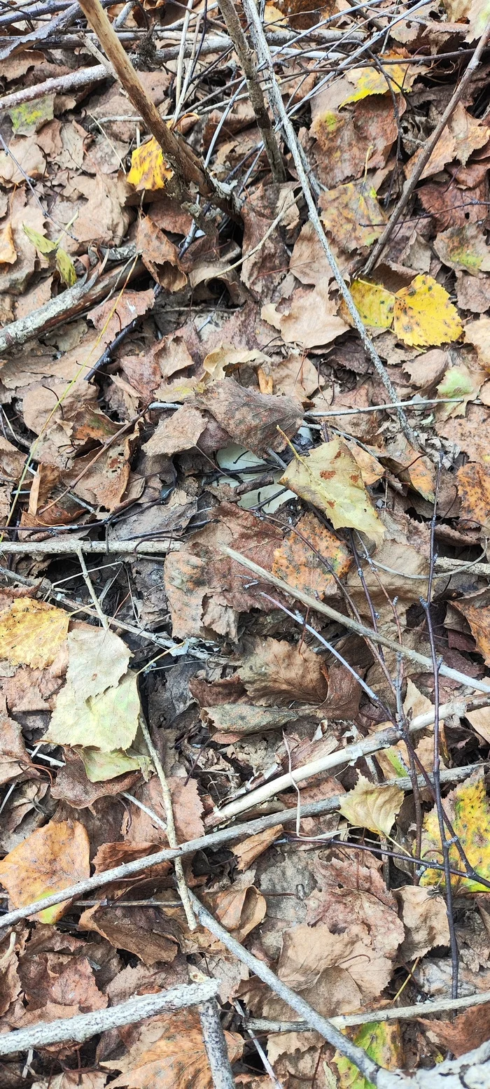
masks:
{"label": "tan-yellow mottled leaf above the bright yellow pair, right of long twig", "polygon": [[384,216],[369,182],[362,179],[326,189],[320,203],[326,230],[342,249],[367,248],[379,238]]}

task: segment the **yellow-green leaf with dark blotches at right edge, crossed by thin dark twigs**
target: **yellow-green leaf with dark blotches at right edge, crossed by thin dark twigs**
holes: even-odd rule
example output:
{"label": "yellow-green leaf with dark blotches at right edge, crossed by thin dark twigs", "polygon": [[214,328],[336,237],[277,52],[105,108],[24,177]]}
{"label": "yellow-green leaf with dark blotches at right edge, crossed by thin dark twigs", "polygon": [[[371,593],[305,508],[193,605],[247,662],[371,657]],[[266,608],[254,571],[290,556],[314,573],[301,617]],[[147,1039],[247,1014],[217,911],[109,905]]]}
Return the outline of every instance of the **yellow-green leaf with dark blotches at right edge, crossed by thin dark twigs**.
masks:
{"label": "yellow-green leaf with dark blotches at right edge, crossed by thin dark twigs", "polygon": [[[461,840],[465,855],[477,871],[487,881],[490,880],[490,806],[485,788],[485,779],[480,770],[473,773],[464,783],[460,783],[444,798],[445,812]],[[449,848],[451,868],[463,870],[462,860],[454,844]],[[424,819],[421,854],[424,859],[442,864],[441,837],[436,807]],[[444,883],[441,870],[428,869],[420,878],[421,885]],[[487,892],[485,885],[473,878],[451,878],[453,889],[462,893]]]}

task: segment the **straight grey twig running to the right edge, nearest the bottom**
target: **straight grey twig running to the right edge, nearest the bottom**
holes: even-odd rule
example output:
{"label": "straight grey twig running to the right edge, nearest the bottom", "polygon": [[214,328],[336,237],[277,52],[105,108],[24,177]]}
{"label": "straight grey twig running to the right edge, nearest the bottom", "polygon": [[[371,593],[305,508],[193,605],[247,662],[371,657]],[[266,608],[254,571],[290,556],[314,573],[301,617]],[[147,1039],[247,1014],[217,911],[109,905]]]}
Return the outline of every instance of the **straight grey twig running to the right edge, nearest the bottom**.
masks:
{"label": "straight grey twig running to the right edge, nearest the bottom", "polygon": [[[370,1021],[417,1020],[429,1014],[442,1014],[453,1010],[468,1010],[490,1002],[490,991],[481,994],[469,994],[463,999],[437,999],[436,1002],[420,1002],[415,1006],[383,1006],[381,1010],[367,1010],[362,1014],[345,1014],[331,1017],[335,1028],[354,1028],[356,1025],[368,1025]],[[246,1025],[254,1032],[309,1032],[306,1021],[273,1021],[265,1017],[250,1017]]]}

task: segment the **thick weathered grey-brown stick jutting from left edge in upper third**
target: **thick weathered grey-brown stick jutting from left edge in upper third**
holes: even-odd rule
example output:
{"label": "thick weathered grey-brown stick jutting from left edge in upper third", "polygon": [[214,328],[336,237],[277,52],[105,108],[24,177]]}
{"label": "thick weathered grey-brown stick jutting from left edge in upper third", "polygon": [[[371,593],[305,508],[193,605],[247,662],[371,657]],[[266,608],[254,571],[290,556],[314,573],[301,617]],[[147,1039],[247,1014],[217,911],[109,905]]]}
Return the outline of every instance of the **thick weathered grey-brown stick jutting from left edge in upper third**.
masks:
{"label": "thick weathered grey-brown stick jutting from left edge in upper third", "polygon": [[136,261],[131,270],[127,269],[126,262],[122,268],[119,266],[100,277],[97,272],[85,283],[75,283],[74,287],[68,287],[66,291],[61,292],[61,295],[50,298],[49,303],[45,303],[38,310],[34,310],[25,318],[19,318],[19,321],[12,321],[10,326],[0,329],[0,354],[20,347],[34,337],[40,337],[41,333],[54,329],[61,322],[68,321],[69,318],[90,309],[101,298],[106,298],[111,291],[115,291],[118,285],[122,286],[124,276],[126,282],[131,283],[143,271],[142,261]]}

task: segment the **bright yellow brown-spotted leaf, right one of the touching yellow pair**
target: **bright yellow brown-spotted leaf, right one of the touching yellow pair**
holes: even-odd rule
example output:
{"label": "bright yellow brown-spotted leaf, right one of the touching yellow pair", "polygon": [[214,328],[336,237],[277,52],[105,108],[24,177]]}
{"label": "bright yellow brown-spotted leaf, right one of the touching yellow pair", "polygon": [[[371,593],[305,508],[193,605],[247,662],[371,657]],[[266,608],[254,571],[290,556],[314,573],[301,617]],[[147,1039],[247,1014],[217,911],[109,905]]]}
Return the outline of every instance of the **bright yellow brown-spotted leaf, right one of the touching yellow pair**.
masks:
{"label": "bright yellow brown-spotted leaf, right one of the touching yellow pair", "polygon": [[446,344],[463,332],[456,307],[431,276],[416,276],[409,287],[396,292],[394,332],[404,344]]}

